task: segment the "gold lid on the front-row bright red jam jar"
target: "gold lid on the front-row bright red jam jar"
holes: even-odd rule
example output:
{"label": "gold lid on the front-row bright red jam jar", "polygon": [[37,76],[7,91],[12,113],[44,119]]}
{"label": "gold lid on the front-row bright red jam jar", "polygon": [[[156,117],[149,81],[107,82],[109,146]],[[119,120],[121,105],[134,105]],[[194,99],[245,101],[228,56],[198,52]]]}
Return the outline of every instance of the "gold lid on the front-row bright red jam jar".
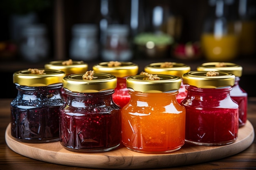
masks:
{"label": "gold lid on the front-row bright red jam jar", "polygon": [[225,71],[218,71],[216,76],[207,76],[208,71],[190,71],[185,73],[183,84],[196,86],[197,88],[220,88],[225,86],[233,86],[235,83],[235,75]]}

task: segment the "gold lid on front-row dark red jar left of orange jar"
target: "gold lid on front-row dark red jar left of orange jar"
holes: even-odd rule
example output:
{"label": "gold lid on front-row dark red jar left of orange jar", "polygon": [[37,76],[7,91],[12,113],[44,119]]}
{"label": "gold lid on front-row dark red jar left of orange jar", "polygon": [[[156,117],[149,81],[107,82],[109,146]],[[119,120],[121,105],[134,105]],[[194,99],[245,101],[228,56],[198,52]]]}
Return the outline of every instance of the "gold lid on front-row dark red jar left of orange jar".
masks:
{"label": "gold lid on front-row dark red jar left of orange jar", "polygon": [[67,75],[63,78],[63,88],[78,93],[95,93],[115,89],[117,77],[105,73],[95,73],[92,80],[83,79],[84,74]]}

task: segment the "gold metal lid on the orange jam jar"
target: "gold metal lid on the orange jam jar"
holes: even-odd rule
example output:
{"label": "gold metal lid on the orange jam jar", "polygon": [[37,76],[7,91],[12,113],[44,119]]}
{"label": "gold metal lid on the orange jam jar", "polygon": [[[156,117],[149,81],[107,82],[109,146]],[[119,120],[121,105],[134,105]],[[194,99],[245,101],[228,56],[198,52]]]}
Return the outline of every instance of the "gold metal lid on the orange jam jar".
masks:
{"label": "gold metal lid on the orange jam jar", "polygon": [[146,75],[132,75],[127,77],[126,86],[132,91],[141,93],[162,93],[177,91],[181,85],[181,78],[175,75],[157,75],[159,80],[149,80]]}

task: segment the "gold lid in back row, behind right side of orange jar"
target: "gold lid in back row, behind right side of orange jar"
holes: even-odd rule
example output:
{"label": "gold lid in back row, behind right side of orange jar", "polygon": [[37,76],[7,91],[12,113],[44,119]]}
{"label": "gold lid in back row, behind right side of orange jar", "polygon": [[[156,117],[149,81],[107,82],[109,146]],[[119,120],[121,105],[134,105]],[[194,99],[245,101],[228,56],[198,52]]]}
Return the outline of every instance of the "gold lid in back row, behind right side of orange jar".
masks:
{"label": "gold lid in back row, behind right side of orange jar", "polygon": [[144,71],[149,74],[168,74],[182,77],[190,71],[190,66],[177,62],[157,62],[145,66]]}

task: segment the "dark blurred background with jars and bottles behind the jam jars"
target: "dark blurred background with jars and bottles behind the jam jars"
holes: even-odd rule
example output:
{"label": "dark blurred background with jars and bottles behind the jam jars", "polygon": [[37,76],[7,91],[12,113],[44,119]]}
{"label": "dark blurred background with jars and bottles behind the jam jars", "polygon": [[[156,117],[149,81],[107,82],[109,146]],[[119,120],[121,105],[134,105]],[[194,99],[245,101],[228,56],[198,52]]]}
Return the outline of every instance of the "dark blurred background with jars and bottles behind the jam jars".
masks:
{"label": "dark blurred background with jars and bottles behind the jam jars", "polygon": [[139,64],[203,62],[243,66],[240,86],[256,96],[255,0],[1,0],[0,73],[16,96],[12,74],[55,60]]}

